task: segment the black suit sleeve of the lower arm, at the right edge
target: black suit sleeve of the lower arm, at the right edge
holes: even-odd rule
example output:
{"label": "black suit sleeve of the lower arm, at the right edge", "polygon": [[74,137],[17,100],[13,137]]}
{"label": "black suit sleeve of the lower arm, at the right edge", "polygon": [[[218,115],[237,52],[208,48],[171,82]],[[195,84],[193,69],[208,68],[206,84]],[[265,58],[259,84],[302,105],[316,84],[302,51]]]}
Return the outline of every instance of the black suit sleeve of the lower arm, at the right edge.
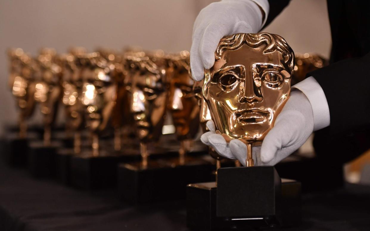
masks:
{"label": "black suit sleeve of the lower arm, at the right edge", "polygon": [[325,93],[331,135],[344,136],[370,127],[369,63],[370,53],[307,74],[319,82]]}

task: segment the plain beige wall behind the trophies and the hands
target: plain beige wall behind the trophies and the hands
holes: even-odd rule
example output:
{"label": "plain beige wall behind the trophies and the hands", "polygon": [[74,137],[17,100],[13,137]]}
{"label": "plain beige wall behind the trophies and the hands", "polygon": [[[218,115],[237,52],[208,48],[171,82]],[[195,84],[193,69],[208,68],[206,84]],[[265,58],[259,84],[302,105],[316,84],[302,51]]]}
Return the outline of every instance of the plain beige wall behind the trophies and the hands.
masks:
{"label": "plain beige wall behind the trophies and the hands", "polygon": [[[121,49],[125,45],[189,50],[192,24],[211,2],[0,0],[0,123],[14,123],[17,118],[7,88],[7,47],[21,47],[33,55],[40,47],[65,52],[73,45],[90,51],[97,46]],[[295,52],[329,55],[330,28],[324,0],[292,0],[264,31],[282,35]]]}

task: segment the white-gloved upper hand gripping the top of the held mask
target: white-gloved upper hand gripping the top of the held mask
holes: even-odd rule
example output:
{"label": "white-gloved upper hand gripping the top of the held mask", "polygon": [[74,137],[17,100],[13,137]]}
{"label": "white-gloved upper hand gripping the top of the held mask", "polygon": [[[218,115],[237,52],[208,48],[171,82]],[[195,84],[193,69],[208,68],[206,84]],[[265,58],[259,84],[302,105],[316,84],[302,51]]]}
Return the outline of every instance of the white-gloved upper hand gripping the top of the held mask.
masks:
{"label": "white-gloved upper hand gripping the top of the held mask", "polygon": [[251,0],[222,0],[202,9],[193,27],[190,51],[193,79],[202,80],[204,68],[213,66],[215,50],[223,36],[257,33],[261,27],[262,11]]}

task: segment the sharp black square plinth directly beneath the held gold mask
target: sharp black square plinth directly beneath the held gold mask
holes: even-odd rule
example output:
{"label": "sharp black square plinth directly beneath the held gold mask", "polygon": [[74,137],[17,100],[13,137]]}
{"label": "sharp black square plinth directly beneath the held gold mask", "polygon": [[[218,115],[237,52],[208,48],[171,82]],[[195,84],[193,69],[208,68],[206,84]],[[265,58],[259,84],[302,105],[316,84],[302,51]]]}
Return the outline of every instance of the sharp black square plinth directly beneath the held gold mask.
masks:
{"label": "sharp black square plinth directly beneath the held gold mask", "polygon": [[217,216],[274,216],[280,188],[280,177],[274,167],[221,168],[218,170]]}

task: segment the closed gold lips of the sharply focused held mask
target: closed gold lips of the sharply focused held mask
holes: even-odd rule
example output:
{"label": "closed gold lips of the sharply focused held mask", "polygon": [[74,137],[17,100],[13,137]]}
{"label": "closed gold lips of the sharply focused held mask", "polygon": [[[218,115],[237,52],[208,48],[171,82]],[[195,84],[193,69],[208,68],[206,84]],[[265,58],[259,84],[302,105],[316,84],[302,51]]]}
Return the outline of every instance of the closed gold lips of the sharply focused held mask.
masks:
{"label": "closed gold lips of the sharply focused held mask", "polygon": [[234,116],[239,123],[251,124],[251,123],[262,123],[269,118],[270,112],[267,110],[255,109],[244,109],[234,112]]}

